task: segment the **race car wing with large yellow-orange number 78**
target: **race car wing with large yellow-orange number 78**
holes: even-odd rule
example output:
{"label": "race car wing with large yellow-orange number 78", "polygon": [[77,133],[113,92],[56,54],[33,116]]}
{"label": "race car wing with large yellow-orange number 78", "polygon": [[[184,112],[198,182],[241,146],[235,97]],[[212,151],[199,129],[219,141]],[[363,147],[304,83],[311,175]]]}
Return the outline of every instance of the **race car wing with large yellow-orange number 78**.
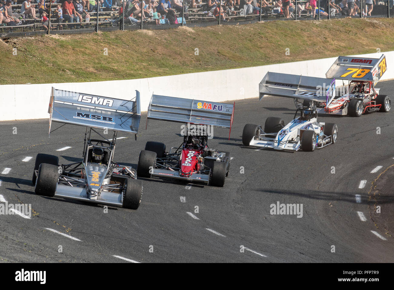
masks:
{"label": "race car wing with large yellow-orange number 78", "polygon": [[380,58],[339,56],[325,75],[340,80],[372,81],[375,85],[386,70],[384,54]]}

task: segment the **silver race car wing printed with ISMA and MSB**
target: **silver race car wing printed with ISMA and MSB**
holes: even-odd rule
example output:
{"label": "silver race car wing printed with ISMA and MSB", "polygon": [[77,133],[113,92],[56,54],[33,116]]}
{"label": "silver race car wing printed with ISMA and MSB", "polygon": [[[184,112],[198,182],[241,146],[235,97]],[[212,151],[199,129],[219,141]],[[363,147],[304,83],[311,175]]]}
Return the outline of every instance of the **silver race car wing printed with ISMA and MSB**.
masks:
{"label": "silver race car wing printed with ISMA and MSB", "polygon": [[49,133],[53,122],[137,134],[141,109],[139,92],[130,101],[57,90],[49,101]]}

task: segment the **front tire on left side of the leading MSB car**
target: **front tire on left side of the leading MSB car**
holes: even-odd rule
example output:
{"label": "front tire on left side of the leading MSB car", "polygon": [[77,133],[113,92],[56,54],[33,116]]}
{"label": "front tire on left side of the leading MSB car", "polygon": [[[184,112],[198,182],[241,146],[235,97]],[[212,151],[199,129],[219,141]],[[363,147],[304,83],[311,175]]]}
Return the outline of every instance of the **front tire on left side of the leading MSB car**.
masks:
{"label": "front tire on left side of the leading MSB car", "polygon": [[55,196],[56,185],[59,181],[58,166],[41,163],[38,168],[34,192],[37,195]]}

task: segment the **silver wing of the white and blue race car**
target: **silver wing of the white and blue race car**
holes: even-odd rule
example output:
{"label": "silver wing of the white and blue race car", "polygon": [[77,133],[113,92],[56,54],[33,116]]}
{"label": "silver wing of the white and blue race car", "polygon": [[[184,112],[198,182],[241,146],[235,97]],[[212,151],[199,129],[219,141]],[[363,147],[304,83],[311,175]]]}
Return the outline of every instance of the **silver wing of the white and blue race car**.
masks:
{"label": "silver wing of the white and blue race car", "polygon": [[268,72],[259,84],[259,99],[265,95],[325,102],[335,97],[335,79]]}

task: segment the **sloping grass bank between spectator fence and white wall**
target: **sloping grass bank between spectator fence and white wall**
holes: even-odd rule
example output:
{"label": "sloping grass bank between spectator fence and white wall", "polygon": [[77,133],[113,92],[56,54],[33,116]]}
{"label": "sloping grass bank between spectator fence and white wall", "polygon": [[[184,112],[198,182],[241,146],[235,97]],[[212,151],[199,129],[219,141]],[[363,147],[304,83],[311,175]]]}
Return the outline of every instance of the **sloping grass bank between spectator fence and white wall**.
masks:
{"label": "sloping grass bank between spectator fence and white wall", "polygon": [[394,19],[340,19],[8,39],[0,42],[0,84],[137,79],[391,51],[392,31]]}

